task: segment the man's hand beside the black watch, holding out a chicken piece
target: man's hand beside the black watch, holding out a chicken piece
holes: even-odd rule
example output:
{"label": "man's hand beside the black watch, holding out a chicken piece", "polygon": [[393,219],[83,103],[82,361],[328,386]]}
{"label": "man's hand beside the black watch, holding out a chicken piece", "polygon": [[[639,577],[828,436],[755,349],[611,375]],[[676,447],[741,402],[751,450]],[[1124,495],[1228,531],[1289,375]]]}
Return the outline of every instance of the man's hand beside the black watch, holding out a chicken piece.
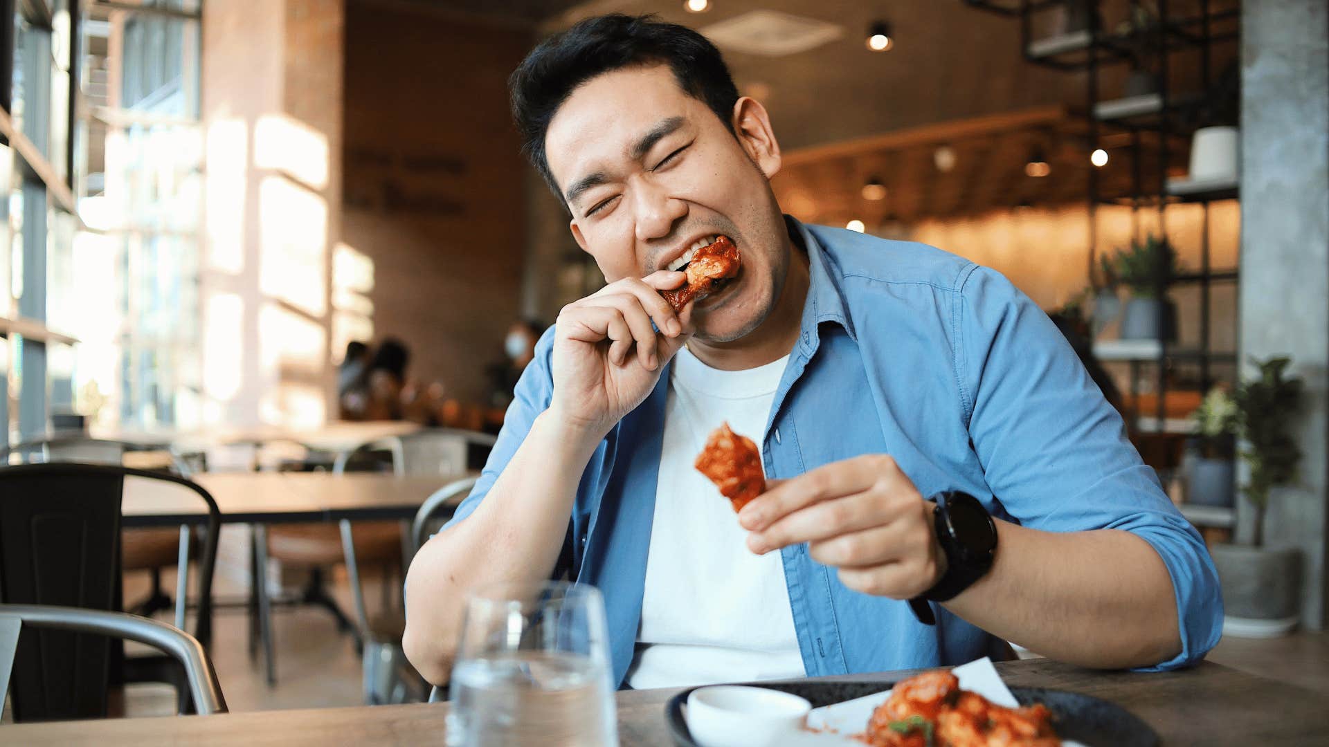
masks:
{"label": "man's hand beside the black watch, holding out a chicken piece", "polygon": [[836,461],[767,485],[739,512],[756,554],[807,542],[812,560],[837,568],[849,589],[893,599],[917,597],[946,572],[933,504],[889,456]]}

